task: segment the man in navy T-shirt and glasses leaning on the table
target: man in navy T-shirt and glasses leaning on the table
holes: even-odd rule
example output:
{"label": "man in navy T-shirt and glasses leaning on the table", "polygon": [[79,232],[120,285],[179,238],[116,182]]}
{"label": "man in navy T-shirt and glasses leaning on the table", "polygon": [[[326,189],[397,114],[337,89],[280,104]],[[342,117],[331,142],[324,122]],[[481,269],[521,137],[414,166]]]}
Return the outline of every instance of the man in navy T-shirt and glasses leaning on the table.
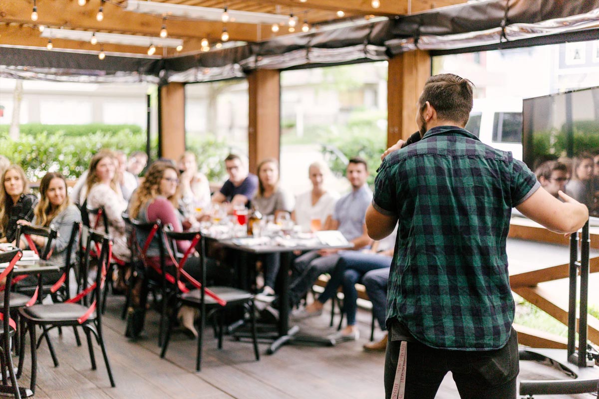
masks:
{"label": "man in navy T-shirt and glasses leaning on the table", "polygon": [[225,158],[225,167],[229,179],[220,191],[212,194],[212,202],[229,202],[231,209],[236,205],[247,205],[258,190],[258,177],[249,173],[247,165],[235,154]]}

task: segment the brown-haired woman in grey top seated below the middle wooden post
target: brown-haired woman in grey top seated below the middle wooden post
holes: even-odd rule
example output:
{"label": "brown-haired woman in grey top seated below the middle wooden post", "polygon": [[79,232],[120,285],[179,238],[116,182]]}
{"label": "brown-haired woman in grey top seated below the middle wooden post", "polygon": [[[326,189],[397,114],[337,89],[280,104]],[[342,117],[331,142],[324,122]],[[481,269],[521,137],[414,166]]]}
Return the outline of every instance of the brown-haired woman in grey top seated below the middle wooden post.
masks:
{"label": "brown-haired woman in grey top seated below the middle wooden post", "polygon": [[[262,216],[276,216],[279,212],[291,212],[292,200],[279,187],[279,162],[268,158],[258,164],[258,193],[252,205]],[[270,301],[274,299],[274,283],[280,267],[280,254],[262,256],[264,267],[264,288],[256,299]]]}

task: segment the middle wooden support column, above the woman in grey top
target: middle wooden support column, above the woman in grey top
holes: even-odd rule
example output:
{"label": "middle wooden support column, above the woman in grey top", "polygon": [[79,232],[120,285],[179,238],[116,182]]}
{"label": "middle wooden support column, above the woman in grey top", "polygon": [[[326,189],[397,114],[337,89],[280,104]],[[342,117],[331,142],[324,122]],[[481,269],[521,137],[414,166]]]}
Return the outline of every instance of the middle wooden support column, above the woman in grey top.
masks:
{"label": "middle wooden support column, above the woman in grey top", "polygon": [[280,155],[280,71],[258,69],[248,77],[249,83],[249,168],[265,158],[279,160]]}

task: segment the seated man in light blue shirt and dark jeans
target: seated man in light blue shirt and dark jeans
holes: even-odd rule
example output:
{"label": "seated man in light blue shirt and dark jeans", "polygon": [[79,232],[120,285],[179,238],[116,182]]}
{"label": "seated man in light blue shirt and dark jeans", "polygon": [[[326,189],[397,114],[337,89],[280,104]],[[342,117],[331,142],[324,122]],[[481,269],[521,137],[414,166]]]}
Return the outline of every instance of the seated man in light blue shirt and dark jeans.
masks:
{"label": "seated man in light blue shirt and dark jeans", "polygon": [[[368,169],[361,158],[352,158],[346,169],[346,177],[352,184],[352,191],[341,197],[335,204],[333,215],[325,223],[324,230],[339,230],[353,243],[352,249],[361,249],[370,245],[372,240],[366,232],[366,209],[372,200],[372,191],[366,184]],[[320,249],[310,251],[298,257],[294,262],[297,272],[289,287],[289,304],[295,306],[314,281],[322,273],[330,273],[339,260],[338,249]]]}

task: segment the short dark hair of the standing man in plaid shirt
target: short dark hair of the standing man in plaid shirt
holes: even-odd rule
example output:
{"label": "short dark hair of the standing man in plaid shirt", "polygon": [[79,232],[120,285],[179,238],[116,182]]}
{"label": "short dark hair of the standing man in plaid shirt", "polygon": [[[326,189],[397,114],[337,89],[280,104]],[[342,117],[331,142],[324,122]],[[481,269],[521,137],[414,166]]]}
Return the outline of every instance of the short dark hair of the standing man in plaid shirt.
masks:
{"label": "short dark hair of the standing man in plaid shirt", "polygon": [[428,101],[440,120],[468,123],[473,105],[474,84],[454,74],[434,75],[428,78],[420,99],[420,110]]}

